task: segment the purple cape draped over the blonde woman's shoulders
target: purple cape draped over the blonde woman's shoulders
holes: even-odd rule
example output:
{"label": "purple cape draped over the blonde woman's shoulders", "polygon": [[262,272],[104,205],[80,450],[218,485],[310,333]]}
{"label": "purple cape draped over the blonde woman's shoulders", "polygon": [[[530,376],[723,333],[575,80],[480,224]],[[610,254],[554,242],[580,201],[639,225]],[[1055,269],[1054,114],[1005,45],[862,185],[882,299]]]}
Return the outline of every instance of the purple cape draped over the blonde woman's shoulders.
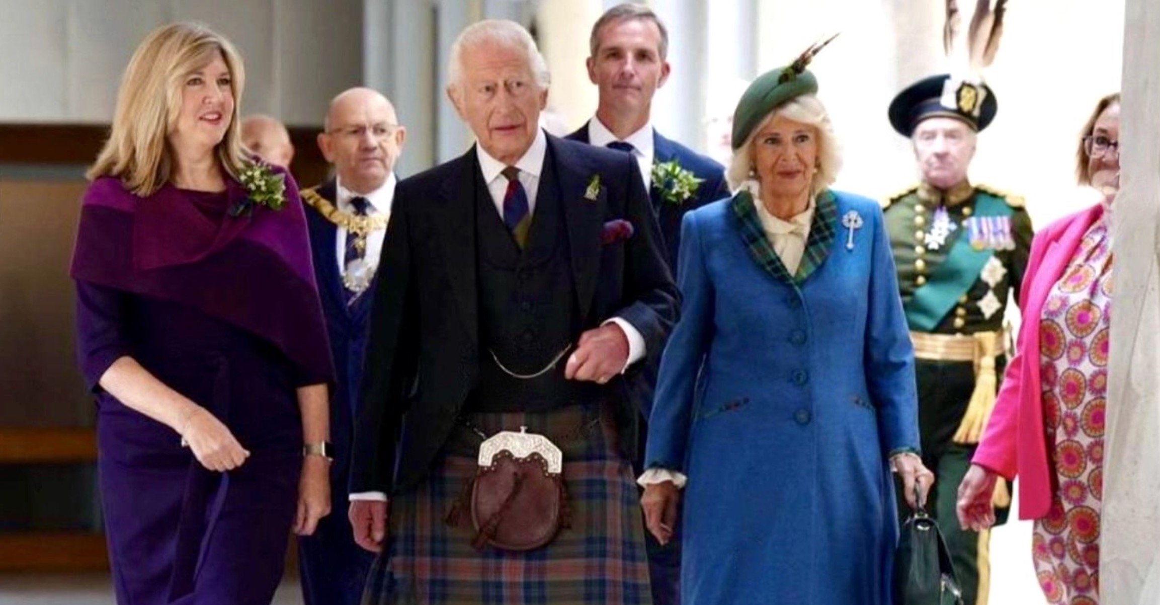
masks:
{"label": "purple cape draped over the blonde woman's shoulders", "polygon": [[[275,168],[277,170],[277,168]],[[165,185],[148,197],[102,177],[85,194],[70,274],[193,307],[273,343],[306,380],[333,383],[306,218],[285,174],[281,210],[234,217],[198,208],[197,192]],[[246,190],[226,181],[227,207]]]}

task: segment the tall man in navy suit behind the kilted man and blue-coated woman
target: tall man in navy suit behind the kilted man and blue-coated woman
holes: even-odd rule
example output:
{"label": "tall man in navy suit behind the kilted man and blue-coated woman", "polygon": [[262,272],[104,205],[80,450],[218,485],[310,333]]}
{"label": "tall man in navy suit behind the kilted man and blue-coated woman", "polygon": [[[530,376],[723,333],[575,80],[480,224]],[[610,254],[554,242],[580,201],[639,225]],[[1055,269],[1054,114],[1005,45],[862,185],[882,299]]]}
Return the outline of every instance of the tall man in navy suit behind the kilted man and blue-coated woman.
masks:
{"label": "tall man in navy suit behind the kilted man and blue-coated woman", "polygon": [[[600,87],[596,115],[568,138],[632,153],[665,237],[669,267],[676,273],[684,213],[727,197],[725,168],[712,159],[661,136],[652,125],[652,99],[668,79],[668,30],[648,7],[622,3],[608,9],[592,28],[588,78]],[[690,185],[691,186],[688,186]],[[657,366],[644,368],[635,396],[652,409]],[[647,419],[647,416],[646,416]],[[644,433],[641,433],[643,438]],[[637,460],[637,470],[643,470]],[[648,476],[643,481],[652,481]],[[680,603],[680,535],[661,546],[648,534],[653,603]]]}

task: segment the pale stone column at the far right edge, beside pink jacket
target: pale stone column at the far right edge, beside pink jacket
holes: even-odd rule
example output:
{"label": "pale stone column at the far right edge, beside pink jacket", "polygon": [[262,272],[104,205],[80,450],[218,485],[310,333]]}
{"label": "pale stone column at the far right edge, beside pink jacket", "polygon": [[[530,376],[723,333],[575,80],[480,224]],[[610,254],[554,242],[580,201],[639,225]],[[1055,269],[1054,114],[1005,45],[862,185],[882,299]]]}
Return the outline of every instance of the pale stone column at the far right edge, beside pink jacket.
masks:
{"label": "pale stone column at the far right edge, beside pink jacket", "polygon": [[1160,6],[1126,0],[1100,603],[1160,603]]}

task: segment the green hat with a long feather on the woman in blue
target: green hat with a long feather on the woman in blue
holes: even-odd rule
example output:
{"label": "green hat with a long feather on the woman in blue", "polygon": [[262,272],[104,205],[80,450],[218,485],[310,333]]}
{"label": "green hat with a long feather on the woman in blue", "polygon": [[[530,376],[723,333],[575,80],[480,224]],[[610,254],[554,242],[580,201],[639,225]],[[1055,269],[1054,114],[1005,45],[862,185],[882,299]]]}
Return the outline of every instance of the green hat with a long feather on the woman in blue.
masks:
{"label": "green hat with a long feather on the woman in blue", "polygon": [[762,73],[753,80],[741,95],[741,100],[737,102],[737,110],[733,111],[733,136],[730,142],[733,151],[740,149],[761,121],[778,106],[804,94],[818,92],[818,79],[805,67],[814,55],[835,37],[838,34],[812,44],[793,63]]}

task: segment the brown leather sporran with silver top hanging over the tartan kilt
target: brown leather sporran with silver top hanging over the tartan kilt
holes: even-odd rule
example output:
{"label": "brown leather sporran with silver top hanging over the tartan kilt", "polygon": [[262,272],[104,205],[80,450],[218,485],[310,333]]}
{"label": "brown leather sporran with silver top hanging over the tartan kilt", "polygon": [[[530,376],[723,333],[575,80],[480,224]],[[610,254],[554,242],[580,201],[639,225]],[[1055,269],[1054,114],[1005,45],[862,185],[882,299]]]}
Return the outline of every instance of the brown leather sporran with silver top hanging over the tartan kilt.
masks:
{"label": "brown leather sporran with silver top hanging over the tartan kilt", "polygon": [[564,487],[564,455],[544,435],[502,431],[479,446],[479,469],[448,513],[448,523],[471,512],[477,549],[534,550],[571,525]]}

